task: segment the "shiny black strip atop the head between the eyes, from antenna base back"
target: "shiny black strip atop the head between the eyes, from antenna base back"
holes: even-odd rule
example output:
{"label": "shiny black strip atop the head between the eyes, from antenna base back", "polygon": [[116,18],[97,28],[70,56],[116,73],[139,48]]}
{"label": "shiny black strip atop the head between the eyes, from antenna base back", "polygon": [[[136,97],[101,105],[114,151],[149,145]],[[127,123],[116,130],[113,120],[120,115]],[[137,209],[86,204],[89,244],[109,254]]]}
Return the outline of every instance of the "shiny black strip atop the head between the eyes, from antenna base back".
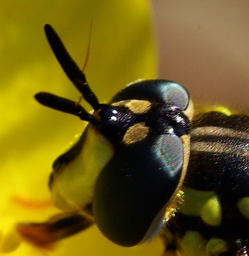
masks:
{"label": "shiny black strip atop the head between the eyes, from antenna base back", "polygon": [[97,130],[116,147],[119,147],[122,143],[129,127],[142,122],[149,128],[148,136],[175,134],[181,137],[183,134],[188,134],[190,130],[188,118],[179,107],[162,103],[151,103],[145,113],[133,113],[126,106],[101,104],[98,117],[100,118],[100,124],[96,125]]}

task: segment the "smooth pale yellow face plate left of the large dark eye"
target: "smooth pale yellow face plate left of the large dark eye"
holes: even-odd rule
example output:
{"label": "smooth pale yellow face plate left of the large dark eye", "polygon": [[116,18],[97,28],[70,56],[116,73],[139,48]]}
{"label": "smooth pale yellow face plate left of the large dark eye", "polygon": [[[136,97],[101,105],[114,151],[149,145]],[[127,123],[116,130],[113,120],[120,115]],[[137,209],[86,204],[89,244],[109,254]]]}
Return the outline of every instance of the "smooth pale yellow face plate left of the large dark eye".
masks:
{"label": "smooth pale yellow face plate left of the large dark eye", "polygon": [[55,206],[72,212],[91,203],[95,182],[113,155],[113,145],[89,124],[81,152],[55,173],[51,189]]}

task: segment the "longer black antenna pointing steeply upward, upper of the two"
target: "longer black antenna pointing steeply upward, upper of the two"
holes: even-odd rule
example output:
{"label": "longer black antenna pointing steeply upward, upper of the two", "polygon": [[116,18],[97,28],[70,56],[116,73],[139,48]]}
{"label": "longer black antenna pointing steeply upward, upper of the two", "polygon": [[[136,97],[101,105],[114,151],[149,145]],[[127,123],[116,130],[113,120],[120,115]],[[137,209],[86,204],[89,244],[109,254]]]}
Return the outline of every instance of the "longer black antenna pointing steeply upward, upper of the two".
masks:
{"label": "longer black antenna pointing steeply upward, upper of the two", "polygon": [[85,74],[81,71],[73,58],[70,56],[52,26],[46,24],[44,26],[44,29],[46,37],[48,39],[48,43],[50,44],[50,47],[55,54],[55,57],[59,61],[67,77],[73,82],[75,87],[83,95],[83,98],[93,107],[93,109],[98,110],[98,98],[86,82]]}

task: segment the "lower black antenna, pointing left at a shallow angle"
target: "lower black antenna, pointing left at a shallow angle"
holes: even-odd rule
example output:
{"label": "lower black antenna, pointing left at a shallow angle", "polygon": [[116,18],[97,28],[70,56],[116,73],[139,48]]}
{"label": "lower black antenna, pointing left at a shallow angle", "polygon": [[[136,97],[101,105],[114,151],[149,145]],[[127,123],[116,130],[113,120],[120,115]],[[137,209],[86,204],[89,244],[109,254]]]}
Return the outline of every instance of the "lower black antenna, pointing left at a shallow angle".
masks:
{"label": "lower black antenna, pointing left at a shallow angle", "polygon": [[75,101],[59,97],[52,93],[37,93],[35,99],[46,107],[56,109],[65,113],[78,116],[81,120],[90,122],[91,124],[98,124],[99,122],[89,114],[81,105]]}

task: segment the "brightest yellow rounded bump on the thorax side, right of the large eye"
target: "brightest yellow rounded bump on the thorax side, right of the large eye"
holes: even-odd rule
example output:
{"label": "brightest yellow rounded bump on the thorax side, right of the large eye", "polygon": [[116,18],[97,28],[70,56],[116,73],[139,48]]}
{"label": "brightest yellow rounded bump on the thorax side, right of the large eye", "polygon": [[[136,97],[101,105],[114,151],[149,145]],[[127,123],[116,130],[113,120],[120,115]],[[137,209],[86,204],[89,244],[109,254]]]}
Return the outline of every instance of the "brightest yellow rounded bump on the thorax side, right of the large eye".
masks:
{"label": "brightest yellow rounded bump on the thorax side, right of the large eye", "polygon": [[208,199],[201,208],[202,220],[210,226],[219,226],[222,220],[222,210],[219,198],[215,195]]}

